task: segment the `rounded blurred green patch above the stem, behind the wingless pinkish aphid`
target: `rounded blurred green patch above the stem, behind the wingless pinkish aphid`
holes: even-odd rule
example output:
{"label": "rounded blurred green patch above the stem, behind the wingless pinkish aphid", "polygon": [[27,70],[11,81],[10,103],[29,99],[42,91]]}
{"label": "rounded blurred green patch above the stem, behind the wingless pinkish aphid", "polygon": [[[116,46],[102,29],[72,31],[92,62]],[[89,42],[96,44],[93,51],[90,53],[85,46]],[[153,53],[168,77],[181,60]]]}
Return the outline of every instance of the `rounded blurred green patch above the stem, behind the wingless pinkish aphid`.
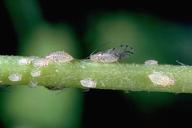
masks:
{"label": "rounded blurred green patch above the stem, behind the wingless pinkish aphid", "polygon": [[65,51],[76,58],[81,57],[74,31],[64,24],[40,24],[21,39],[19,48],[21,54],[27,56],[45,56],[49,52]]}

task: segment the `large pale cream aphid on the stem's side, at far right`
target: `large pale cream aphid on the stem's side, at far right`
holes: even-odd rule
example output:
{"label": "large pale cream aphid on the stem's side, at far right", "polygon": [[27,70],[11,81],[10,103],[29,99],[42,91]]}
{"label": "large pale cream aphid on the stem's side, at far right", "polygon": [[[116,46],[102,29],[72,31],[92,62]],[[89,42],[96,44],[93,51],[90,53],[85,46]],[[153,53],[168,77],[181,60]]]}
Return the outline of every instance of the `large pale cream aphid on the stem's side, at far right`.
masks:
{"label": "large pale cream aphid on the stem's side, at far right", "polygon": [[175,84],[175,79],[162,72],[153,72],[148,77],[154,85],[167,87]]}

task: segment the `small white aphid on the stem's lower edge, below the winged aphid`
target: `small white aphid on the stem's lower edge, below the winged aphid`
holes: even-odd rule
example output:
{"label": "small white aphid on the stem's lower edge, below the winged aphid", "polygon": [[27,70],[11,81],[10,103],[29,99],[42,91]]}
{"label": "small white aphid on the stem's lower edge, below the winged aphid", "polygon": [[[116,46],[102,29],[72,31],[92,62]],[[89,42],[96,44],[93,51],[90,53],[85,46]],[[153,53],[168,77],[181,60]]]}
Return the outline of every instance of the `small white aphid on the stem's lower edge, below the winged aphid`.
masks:
{"label": "small white aphid on the stem's lower edge, below the winged aphid", "polygon": [[92,80],[91,78],[80,80],[80,83],[83,87],[87,87],[87,88],[95,88],[97,85],[96,81]]}

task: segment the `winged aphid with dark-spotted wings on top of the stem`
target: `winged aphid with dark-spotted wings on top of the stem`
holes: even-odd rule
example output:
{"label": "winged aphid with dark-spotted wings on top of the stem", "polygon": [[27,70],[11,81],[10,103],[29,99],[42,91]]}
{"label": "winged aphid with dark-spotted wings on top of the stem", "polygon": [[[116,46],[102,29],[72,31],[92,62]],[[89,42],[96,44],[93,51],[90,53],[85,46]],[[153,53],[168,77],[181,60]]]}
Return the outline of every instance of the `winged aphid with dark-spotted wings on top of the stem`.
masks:
{"label": "winged aphid with dark-spotted wings on top of the stem", "polygon": [[133,54],[133,48],[128,45],[120,45],[120,47],[108,49],[103,52],[97,52],[90,55],[93,62],[113,63],[124,59]]}

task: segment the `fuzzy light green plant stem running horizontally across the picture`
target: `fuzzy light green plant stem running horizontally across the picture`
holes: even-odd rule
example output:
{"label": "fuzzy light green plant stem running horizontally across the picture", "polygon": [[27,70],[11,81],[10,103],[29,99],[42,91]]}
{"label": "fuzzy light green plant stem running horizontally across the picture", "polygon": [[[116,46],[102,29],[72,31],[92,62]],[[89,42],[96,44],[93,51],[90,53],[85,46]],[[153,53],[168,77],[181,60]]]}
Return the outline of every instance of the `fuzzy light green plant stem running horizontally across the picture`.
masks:
{"label": "fuzzy light green plant stem running horizontally across the picture", "polygon": [[[80,81],[92,79],[97,89],[113,89],[127,91],[158,91],[173,93],[192,93],[191,66],[144,65],[124,63],[95,63],[88,60],[71,62],[52,62],[43,67],[35,67],[33,63],[19,64],[19,60],[31,57],[0,56],[0,84],[30,85],[62,88],[85,88]],[[31,72],[40,71],[40,76],[33,77]],[[154,84],[149,75],[161,72],[170,76],[175,82],[172,85]],[[21,74],[20,81],[11,81],[11,74]]]}

